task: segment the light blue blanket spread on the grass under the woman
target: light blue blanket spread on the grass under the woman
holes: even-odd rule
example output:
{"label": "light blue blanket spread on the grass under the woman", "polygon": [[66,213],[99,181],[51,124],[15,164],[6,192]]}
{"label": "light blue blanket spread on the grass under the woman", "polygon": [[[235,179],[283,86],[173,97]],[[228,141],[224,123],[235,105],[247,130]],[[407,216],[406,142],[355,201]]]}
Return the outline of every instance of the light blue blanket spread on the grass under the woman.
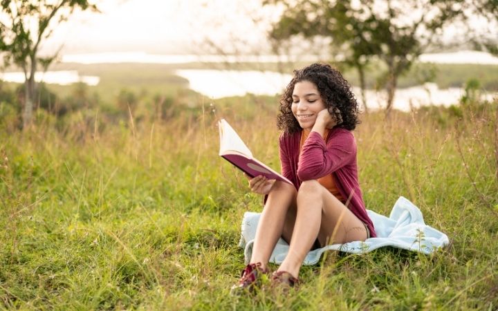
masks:
{"label": "light blue blanket spread on the grass under the woman", "polygon": [[[365,242],[356,241],[327,245],[326,247],[315,249],[308,252],[303,264],[314,265],[320,260],[323,252],[327,250],[360,254],[371,252],[379,247],[391,246],[430,254],[449,243],[446,234],[425,225],[420,209],[406,198],[403,198],[403,196],[398,198],[394,204],[389,218],[368,209],[367,212],[374,222],[377,233],[376,238],[369,238]],[[243,216],[239,246],[244,248],[246,263],[249,262],[252,254],[252,244],[254,243],[259,216],[259,213],[250,211]],[[273,250],[273,254],[270,256],[270,263],[282,263],[287,252],[288,244],[280,238]]]}

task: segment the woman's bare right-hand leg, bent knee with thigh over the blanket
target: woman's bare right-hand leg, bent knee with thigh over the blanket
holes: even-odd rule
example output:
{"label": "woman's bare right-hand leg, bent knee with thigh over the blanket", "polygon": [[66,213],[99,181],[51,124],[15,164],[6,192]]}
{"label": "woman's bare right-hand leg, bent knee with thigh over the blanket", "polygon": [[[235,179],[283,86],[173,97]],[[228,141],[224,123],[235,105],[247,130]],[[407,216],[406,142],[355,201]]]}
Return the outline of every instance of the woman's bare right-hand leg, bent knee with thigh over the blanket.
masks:
{"label": "woman's bare right-hand leg, bent knee with thigh over the blanket", "polygon": [[365,226],[317,180],[302,183],[297,193],[297,216],[288,254],[279,267],[297,277],[318,238],[321,245],[365,241]]}

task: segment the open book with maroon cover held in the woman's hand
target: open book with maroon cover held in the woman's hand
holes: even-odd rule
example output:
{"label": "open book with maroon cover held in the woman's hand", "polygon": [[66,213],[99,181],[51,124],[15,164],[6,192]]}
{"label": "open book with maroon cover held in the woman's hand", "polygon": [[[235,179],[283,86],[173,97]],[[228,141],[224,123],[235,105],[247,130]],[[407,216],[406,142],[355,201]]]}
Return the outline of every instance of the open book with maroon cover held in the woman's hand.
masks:
{"label": "open book with maroon cover held in the woman's hand", "polygon": [[263,175],[268,179],[283,180],[293,185],[291,180],[288,180],[266,164],[255,159],[249,148],[225,119],[219,120],[218,127],[220,133],[219,155],[225,158],[225,160],[234,164],[250,177]]}

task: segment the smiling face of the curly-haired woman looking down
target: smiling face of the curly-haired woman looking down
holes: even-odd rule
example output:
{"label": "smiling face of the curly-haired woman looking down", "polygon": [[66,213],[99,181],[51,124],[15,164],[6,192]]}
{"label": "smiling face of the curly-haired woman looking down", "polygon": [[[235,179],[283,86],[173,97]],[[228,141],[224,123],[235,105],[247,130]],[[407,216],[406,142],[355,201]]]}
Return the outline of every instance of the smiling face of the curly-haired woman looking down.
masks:
{"label": "smiling face of the curly-haired woman looking down", "polygon": [[313,82],[301,81],[295,84],[291,110],[302,129],[311,130],[317,114],[323,109],[325,104]]}

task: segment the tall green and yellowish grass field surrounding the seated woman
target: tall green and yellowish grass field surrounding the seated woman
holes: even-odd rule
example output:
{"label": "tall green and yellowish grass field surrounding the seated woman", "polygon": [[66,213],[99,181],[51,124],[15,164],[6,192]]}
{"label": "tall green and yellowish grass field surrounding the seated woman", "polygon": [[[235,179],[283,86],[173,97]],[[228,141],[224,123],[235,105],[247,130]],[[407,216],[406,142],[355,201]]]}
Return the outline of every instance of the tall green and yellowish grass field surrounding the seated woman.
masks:
{"label": "tall green and yellowish grass field surrounding the seated woman", "polygon": [[367,208],[388,216],[405,196],[450,245],[432,255],[331,252],[302,269],[288,296],[230,296],[244,266],[241,219],[261,198],[217,156],[216,118],[226,117],[278,169],[275,108],[250,97],[214,107],[154,122],[102,126],[97,115],[64,130],[50,118],[0,129],[0,308],[498,308],[496,102],[464,107],[461,118],[364,115],[355,135]]}

